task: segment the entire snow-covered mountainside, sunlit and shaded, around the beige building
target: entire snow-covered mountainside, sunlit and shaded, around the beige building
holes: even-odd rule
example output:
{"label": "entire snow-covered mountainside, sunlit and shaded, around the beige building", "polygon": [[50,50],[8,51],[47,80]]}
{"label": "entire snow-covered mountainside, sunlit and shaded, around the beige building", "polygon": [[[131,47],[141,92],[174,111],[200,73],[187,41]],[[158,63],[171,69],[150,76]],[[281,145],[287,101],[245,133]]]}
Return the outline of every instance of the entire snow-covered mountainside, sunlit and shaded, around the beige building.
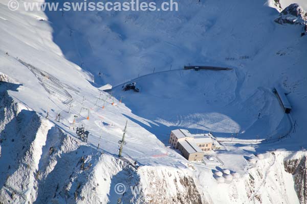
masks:
{"label": "entire snow-covered mountainside, sunlit and shaded, around the beige building", "polygon": [[[306,148],[302,25],[274,22],[279,13],[255,1],[63,16],[12,12],[7,3],[0,4],[0,202],[305,203],[306,154],[295,153]],[[233,70],[173,70],[189,63]],[[119,86],[117,99],[99,96],[96,86],[154,69],[173,71],[136,80],[140,93]],[[276,84],[289,92],[292,127],[271,92]],[[138,170],[117,157],[126,120],[123,154]],[[81,124],[90,131],[87,143],[73,129]],[[211,153],[224,165],[210,166],[167,147],[178,127],[276,142],[225,143]],[[224,168],[232,175],[214,174]],[[118,183],[125,194],[115,192]]]}

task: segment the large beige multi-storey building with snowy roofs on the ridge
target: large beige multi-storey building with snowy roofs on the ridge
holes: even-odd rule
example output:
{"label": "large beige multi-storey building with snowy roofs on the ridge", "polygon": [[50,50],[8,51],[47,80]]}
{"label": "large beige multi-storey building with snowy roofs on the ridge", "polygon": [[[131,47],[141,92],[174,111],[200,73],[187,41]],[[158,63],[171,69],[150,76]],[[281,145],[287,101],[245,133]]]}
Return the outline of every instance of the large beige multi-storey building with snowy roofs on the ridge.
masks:
{"label": "large beige multi-storey building with snowy roofs on the ridge", "polygon": [[[202,161],[204,152],[212,150],[213,139],[209,134],[192,135],[189,131],[178,129],[170,133],[169,143],[175,149],[179,149],[182,155],[189,161]],[[214,141],[217,143],[216,141]]]}

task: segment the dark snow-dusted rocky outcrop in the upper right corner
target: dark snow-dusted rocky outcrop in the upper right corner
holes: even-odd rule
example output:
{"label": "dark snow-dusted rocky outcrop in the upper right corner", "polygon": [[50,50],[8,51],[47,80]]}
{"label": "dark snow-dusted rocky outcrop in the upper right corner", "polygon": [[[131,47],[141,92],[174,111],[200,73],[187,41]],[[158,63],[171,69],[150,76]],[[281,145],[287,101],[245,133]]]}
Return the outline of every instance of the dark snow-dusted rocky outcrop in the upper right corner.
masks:
{"label": "dark snow-dusted rocky outcrop in the upper right corner", "polygon": [[279,24],[307,24],[307,13],[298,4],[291,4],[281,11],[275,22]]}

